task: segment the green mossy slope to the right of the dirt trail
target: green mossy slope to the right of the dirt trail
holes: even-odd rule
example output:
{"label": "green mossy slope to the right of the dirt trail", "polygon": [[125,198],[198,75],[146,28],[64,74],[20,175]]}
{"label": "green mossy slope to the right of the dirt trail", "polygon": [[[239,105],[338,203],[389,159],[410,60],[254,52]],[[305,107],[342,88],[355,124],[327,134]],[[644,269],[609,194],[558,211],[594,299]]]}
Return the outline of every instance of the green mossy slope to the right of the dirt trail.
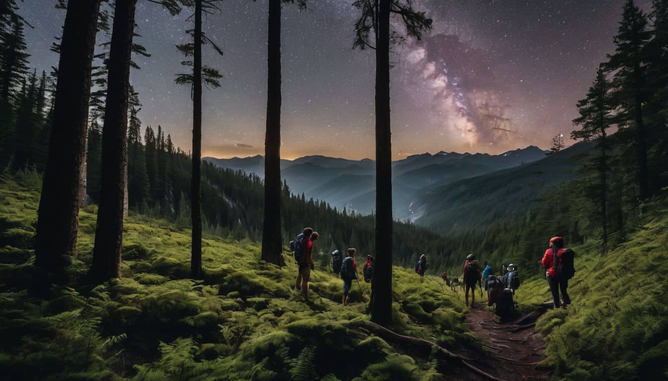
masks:
{"label": "green mossy slope to the right of the dirt trail", "polygon": [[[567,380],[668,378],[668,216],[652,220],[605,258],[598,242],[574,248],[572,305],[542,316],[546,365]],[[524,309],[552,300],[546,280],[522,284]]]}

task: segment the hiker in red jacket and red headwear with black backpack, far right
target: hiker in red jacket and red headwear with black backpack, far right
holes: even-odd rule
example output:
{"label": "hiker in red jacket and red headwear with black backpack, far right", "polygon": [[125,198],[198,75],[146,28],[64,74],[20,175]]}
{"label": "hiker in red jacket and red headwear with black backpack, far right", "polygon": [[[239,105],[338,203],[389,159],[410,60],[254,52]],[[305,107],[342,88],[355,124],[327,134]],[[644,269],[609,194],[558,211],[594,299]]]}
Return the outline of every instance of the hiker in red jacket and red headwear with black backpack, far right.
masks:
{"label": "hiker in red jacket and red headwear with black backpack, far right", "polygon": [[575,266],[573,257],[575,253],[569,248],[564,248],[564,238],[553,237],[550,240],[550,248],[545,251],[542,259],[542,266],[546,270],[547,282],[552,292],[552,302],[554,308],[559,308],[559,291],[564,300],[563,306],[570,304],[568,296],[568,280],[575,275]]}

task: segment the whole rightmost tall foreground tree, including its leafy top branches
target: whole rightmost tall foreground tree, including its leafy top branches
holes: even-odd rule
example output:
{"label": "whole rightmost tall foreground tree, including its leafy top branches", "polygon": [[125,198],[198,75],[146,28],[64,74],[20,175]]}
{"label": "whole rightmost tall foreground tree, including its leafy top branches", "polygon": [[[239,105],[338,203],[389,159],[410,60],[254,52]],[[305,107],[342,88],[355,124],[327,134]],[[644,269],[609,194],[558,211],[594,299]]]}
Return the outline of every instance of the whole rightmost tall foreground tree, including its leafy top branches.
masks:
{"label": "whole rightmost tall foreground tree, including its leafy top branches", "polygon": [[[432,19],[413,9],[412,0],[357,0],[361,11],[355,23],[353,47],[375,49],[375,136],[376,136],[376,206],[375,206],[375,276],[371,291],[371,320],[383,326],[391,324],[392,312],[392,149],[389,116],[389,47],[405,37],[391,28],[391,15],[401,18],[408,36],[420,39],[432,28]],[[373,41],[369,33],[373,31]],[[375,47],[372,45],[375,43]]]}

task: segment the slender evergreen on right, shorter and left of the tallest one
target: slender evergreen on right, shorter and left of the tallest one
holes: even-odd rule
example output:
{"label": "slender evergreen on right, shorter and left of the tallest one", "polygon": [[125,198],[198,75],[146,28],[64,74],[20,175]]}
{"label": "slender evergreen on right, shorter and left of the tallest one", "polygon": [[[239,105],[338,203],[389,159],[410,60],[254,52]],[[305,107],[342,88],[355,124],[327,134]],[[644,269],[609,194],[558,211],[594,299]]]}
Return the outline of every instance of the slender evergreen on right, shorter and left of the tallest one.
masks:
{"label": "slender evergreen on right, shorter and left of the tallest one", "polygon": [[593,190],[594,197],[599,202],[599,212],[601,227],[603,233],[603,253],[605,254],[608,246],[608,155],[610,143],[607,135],[607,129],[613,123],[613,105],[610,97],[610,83],[605,76],[603,67],[599,67],[596,79],[589,88],[587,97],[578,101],[578,112],[580,116],[573,119],[574,125],[579,125],[581,129],[572,131],[572,139],[584,139],[585,141],[596,141],[596,147],[599,150],[599,157],[595,158],[593,167],[599,173],[599,181],[589,183],[589,188]]}

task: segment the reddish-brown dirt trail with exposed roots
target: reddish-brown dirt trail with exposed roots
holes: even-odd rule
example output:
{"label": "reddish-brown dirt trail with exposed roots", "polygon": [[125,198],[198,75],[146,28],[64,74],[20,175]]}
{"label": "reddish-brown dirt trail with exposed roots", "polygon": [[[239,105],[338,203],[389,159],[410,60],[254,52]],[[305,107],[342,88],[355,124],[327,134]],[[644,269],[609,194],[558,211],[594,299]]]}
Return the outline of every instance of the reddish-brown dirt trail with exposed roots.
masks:
{"label": "reddish-brown dirt trail with exposed roots", "polygon": [[[514,331],[518,326],[524,327],[535,322],[538,316],[540,313],[535,312],[514,322],[500,324],[494,322],[494,314],[486,310],[486,304],[480,304],[470,310],[466,321],[471,324],[472,332],[478,336],[486,350],[486,355],[472,364],[500,380],[548,380],[549,371],[536,369],[538,362],[544,358],[542,336],[533,326]],[[475,355],[470,353],[469,356]],[[462,372],[467,371],[462,369]],[[460,375],[464,376],[462,373]],[[470,374],[466,379],[488,378]]]}

